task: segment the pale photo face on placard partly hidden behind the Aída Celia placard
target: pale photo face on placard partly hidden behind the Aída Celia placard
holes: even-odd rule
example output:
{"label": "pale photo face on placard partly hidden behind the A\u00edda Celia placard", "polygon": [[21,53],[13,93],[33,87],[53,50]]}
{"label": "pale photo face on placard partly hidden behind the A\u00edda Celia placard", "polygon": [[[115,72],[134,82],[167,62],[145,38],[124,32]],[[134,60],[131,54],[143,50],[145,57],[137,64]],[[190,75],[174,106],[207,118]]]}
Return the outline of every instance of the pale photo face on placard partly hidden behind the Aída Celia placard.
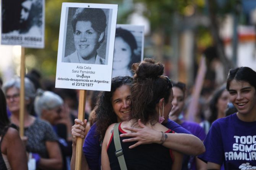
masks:
{"label": "pale photo face on placard partly hidden behind the A\u00edda Celia placard", "polygon": [[[131,61],[131,47],[123,38],[115,38],[113,69],[123,69],[128,67]],[[130,68],[128,68],[130,69]]]}

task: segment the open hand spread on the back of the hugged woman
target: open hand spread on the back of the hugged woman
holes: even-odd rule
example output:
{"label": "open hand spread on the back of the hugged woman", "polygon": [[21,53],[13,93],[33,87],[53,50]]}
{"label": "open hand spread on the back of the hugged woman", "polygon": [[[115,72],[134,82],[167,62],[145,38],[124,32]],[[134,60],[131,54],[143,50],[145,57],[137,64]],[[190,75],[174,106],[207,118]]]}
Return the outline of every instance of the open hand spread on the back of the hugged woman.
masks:
{"label": "open hand spread on the back of the hugged woman", "polygon": [[123,142],[137,141],[134,145],[129,146],[130,149],[141,144],[160,143],[159,139],[162,137],[161,132],[145,126],[140,119],[138,120],[138,124],[141,128],[123,127],[123,129],[130,130],[132,133],[123,133],[120,135],[120,137],[132,137],[122,140]]}

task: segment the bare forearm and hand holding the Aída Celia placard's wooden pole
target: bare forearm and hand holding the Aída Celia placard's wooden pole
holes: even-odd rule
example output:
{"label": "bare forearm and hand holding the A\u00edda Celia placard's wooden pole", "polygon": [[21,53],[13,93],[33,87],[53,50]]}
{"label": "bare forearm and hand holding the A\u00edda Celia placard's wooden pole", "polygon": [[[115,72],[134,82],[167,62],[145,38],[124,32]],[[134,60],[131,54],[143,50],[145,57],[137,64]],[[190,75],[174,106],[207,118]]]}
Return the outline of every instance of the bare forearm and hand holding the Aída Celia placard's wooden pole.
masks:
{"label": "bare forearm and hand holding the A\u00edda Celia placard's wooden pole", "polygon": [[[76,164],[76,140],[77,137],[80,137],[82,139],[85,138],[85,129],[86,129],[86,122],[87,120],[85,119],[84,122],[80,121],[79,119],[75,119],[75,125],[72,126],[72,157],[71,157],[71,162],[70,162],[70,167],[71,170],[75,170],[75,164]],[[89,170],[89,166],[86,161],[86,157],[84,154],[82,154],[81,158],[81,169],[82,170]]]}

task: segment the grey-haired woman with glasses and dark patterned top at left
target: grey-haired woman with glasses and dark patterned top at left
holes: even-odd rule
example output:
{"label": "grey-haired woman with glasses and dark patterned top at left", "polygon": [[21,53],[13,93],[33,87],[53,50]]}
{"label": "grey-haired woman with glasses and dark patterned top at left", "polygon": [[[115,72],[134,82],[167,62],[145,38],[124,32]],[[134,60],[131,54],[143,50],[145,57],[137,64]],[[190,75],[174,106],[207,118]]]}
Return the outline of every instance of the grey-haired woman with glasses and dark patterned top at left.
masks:
{"label": "grey-haired woman with glasses and dark patterned top at left", "polygon": [[[20,78],[14,78],[3,85],[6,95],[6,103],[11,111],[11,123],[19,129],[19,110],[20,110]],[[58,138],[52,126],[48,122],[42,121],[29,114],[33,105],[36,91],[34,85],[28,78],[24,79],[24,136],[27,137],[26,151],[32,153],[36,159],[36,168],[56,169],[62,168],[62,158],[58,146]]]}

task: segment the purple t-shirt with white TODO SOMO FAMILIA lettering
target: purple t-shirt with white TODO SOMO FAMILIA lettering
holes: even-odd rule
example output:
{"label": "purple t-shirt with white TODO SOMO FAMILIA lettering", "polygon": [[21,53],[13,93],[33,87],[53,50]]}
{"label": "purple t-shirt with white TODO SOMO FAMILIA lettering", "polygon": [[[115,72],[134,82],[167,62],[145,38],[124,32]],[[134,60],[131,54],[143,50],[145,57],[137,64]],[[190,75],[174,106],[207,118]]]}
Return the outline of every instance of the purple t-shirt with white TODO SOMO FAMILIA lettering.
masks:
{"label": "purple t-shirt with white TODO SOMO FAMILIA lettering", "polygon": [[206,139],[205,162],[224,164],[225,170],[256,169],[256,121],[244,122],[237,114],[213,122]]}

